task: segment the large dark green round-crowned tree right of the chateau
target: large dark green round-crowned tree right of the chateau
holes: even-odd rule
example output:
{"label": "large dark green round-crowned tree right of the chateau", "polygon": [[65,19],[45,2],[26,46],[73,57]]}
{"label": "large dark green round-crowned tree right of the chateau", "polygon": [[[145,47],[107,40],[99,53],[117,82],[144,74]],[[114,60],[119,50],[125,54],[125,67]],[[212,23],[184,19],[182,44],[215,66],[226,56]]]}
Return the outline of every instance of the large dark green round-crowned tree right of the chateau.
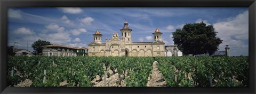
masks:
{"label": "large dark green round-crowned tree right of the chateau", "polygon": [[216,37],[217,31],[213,25],[204,22],[185,24],[182,29],[177,29],[172,33],[174,44],[183,54],[209,54],[212,55],[218,51],[218,46],[222,43],[219,37]]}

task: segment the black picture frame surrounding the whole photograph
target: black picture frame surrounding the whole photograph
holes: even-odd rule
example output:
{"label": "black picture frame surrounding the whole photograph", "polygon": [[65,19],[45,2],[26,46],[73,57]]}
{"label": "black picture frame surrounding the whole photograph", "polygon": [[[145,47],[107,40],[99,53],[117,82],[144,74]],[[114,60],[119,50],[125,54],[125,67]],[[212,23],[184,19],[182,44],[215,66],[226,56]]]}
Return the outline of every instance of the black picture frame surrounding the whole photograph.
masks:
{"label": "black picture frame surrounding the whole photograph", "polygon": [[[1,93],[255,93],[255,0],[1,0]],[[9,7],[248,7],[249,87],[8,87],[7,8]]]}

